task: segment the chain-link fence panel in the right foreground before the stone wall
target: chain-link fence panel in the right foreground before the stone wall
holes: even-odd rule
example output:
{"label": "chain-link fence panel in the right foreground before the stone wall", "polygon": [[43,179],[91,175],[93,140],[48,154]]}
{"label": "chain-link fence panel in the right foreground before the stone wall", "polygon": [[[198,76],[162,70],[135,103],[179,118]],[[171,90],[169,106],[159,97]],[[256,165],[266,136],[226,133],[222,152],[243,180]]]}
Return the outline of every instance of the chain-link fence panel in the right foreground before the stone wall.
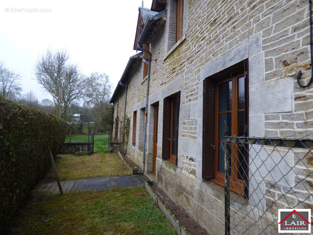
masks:
{"label": "chain-link fence panel in the right foreground before the stone wall", "polygon": [[225,137],[225,234],[278,234],[278,209],[313,209],[312,138]]}

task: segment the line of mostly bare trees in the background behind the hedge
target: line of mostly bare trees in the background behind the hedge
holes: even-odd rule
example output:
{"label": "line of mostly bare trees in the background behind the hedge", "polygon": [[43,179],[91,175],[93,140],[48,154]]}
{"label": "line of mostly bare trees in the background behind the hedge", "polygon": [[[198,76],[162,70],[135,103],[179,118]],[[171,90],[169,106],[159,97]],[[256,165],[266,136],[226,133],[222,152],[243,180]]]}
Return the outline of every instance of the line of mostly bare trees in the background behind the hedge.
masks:
{"label": "line of mostly bare trees in the background behind the hedge", "polygon": [[[38,101],[33,91],[21,95],[21,76],[0,63],[0,95],[24,105],[53,113],[69,124],[93,124],[97,133],[113,122],[113,106],[109,104],[112,84],[105,73],[85,76],[77,64],[70,62],[66,50],[41,55],[34,68],[35,79],[53,100]],[[82,114],[79,121],[74,114]]]}

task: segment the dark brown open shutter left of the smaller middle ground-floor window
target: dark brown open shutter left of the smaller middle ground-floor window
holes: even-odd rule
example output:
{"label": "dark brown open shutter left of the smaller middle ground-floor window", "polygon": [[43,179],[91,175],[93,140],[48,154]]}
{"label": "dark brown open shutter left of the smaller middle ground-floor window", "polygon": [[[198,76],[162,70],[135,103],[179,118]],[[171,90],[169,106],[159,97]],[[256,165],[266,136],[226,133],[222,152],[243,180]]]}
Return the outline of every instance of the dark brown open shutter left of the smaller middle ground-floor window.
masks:
{"label": "dark brown open shutter left of the smaller middle ground-floor window", "polygon": [[162,136],[162,159],[170,158],[170,116],[171,116],[171,100],[163,99],[163,136]]}

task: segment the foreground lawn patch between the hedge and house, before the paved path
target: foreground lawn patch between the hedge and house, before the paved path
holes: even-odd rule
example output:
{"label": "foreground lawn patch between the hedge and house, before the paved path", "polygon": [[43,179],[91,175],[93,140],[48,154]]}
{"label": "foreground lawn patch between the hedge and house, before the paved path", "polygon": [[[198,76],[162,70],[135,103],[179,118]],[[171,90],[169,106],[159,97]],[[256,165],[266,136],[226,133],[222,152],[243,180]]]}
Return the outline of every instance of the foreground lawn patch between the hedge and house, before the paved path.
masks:
{"label": "foreground lawn patch between the hedge and house, before the paved path", "polygon": [[113,188],[33,197],[11,234],[176,234],[146,189]]}

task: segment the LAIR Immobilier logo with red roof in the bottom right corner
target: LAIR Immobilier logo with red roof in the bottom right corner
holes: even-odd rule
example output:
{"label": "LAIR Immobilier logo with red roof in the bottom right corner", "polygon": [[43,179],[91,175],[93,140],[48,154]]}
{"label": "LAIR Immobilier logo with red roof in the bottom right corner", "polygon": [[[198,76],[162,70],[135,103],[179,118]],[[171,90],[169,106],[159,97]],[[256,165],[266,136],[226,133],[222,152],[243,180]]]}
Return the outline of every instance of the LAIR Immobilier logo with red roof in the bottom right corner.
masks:
{"label": "LAIR Immobilier logo with red roof in the bottom right corner", "polygon": [[278,232],[310,233],[311,209],[278,209]]}

